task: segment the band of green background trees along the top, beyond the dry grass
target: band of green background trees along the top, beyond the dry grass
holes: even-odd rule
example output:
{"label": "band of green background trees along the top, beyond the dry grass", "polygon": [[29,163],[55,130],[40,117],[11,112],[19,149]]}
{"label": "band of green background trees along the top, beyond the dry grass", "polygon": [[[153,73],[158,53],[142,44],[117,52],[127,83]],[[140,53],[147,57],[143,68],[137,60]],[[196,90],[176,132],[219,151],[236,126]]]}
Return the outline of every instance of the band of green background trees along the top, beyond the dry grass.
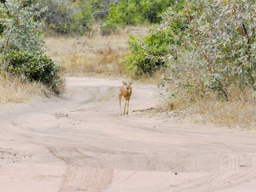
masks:
{"label": "band of green background trees along the top, beyond the dry grass", "polygon": [[158,15],[173,3],[174,0],[33,0],[38,10],[46,7],[39,17],[46,24],[44,29],[62,34],[85,34],[95,21],[102,23],[102,34],[110,34],[120,26],[158,23]]}

